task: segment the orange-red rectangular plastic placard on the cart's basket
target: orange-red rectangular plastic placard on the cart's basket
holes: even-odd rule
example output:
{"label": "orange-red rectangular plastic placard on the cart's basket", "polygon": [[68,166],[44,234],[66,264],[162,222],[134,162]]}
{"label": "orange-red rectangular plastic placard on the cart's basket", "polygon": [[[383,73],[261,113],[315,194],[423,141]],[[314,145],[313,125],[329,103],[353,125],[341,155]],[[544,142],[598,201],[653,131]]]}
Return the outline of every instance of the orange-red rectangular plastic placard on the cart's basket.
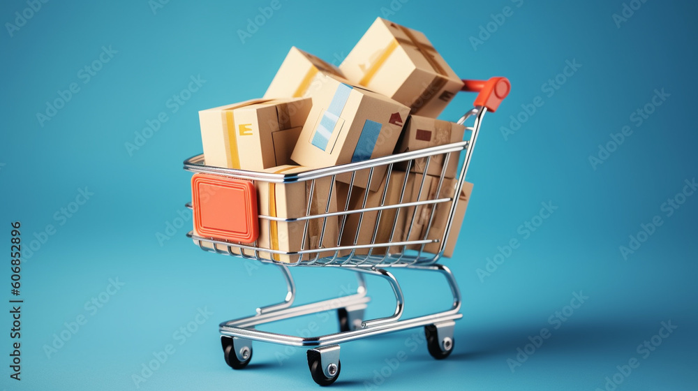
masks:
{"label": "orange-red rectangular plastic placard on the cart's basket", "polygon": [[259,237],[257,191],[252,182],[195,174],[191,197],[198,235],[243,243]]}

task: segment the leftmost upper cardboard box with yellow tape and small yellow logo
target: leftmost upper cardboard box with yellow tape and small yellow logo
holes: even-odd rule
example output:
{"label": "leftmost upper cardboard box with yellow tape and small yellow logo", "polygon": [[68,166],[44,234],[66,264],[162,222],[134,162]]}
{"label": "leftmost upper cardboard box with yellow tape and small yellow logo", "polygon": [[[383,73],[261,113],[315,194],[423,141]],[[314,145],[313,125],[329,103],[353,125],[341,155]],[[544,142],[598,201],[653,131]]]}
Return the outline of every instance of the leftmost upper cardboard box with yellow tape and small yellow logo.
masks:
{"label": "leftmost upper cardboard box with yellow tape and small yellow logo", "polygon": [[255,99],[199,112],[207,165],[264,170],[290,164],[310,98]]}

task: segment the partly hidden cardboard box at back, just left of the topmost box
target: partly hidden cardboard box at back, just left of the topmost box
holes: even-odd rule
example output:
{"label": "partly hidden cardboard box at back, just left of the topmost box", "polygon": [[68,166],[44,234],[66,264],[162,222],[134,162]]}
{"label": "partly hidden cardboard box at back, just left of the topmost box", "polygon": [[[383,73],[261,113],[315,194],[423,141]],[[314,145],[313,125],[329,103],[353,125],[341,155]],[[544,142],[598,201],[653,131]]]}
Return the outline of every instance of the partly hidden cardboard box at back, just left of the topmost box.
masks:
{"label": "partly hidden cardboard box at back, just left of the topmost box", "polygon": [[269,84],[265,98],[300,98],[312,96],[320,87],[323,75],[342,76],[339,68],[313,54],[291,47]]}

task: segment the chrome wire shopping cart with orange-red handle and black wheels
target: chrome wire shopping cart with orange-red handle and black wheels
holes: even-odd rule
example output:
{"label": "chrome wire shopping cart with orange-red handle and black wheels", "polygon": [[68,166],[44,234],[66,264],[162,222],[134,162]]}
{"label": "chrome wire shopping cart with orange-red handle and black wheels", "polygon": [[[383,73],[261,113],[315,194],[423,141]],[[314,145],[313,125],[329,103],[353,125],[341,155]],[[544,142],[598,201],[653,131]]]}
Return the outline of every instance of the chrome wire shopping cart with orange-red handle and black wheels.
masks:
{"label": "chrome wire shopping cart with orange-red handle and black wheels", "polygon": [[[225,362],[230,367],[234,369],[246,367],[252,357],[252,341],[309,347],[310,350],[307,352],[307,357],[313,380],[320,385],[330,385],[334,383],[341,370],[339,344],[413,327],[424,327],[427,347],[429,353],[434,358],[440,360],[450,355],[454,347],[454,320],[462,317],[462,314],[459,313],[461,296],[452,272],[447,267],[440,265],[438,261],[443,256],[445,243],[454,222],[454,212],[459,200],[458,195],[461,193],[463,179],[466,177],[482,118],[488,110],[495,111],[510,91],[510,83],[505,78],[491,78],[487,81],[464,80],[464,82],[463,91],[479,92],[475,99],[475,108],[466,112],[458,121],[459,124],[466,125],[466,130],[470,132],[469,140],[295,174],[274,174],[216,168],[205,165],[205,156],[203,155],[194,156],[184,161],[184,169],[195,172],[195,175],[215,177],[216,180],[240,185],[242,188],[251,186],[249,184],[252,183],[259,186],[260,182],[271,186],[275,184],[279,186],[279,184],[304,183],[309,191],[304,216],[296,219],[283,219],[272,216],[272,214],[259,213],[258,209],[249,206],[256,205],[254,193],[251,197],[252,199],[247,200],[248,202],[228,202],[223,204],[223,207],[231,210],[236,207],[244,207],[244,205],[248,205],[248,208],[253,210],[238,210],[237,212],[233,210],[232,214],[224,213],[223,216],[230,216],[230,219],[239,219],[240,223],[247,228],[258,229],[262,233],[267,231],[269,237],[272,236],[272,231],[278,224],[295,223],[297,226],[302,227],[300,228],[302,229],[302,243],[306,243],[306,239],[309,236],[315,235],[315,243],[322,244],[321,246],[306,246],[305,249],[302,247],[299,251],[281,251],[274,249],[274,246],[269,246],[268,244],[262,245],[258,241],[245,244],[243,242],[232,242],[225,239],[195,235],[193,231],[187,234],[187,237],[193,239],[193,242],[205,251],[277,265],[288,286],[288,294],[283,302],[260,307],[254,316],[221,323],[221,344],[223,345]],[[472,124],[468,126],[470,123]],[[461,151],[465,151],[463,165],[459,172],[456,173],[456,177],[451,180],[450,183],[452,185],[449,187],[447,185],[449,182],[445,178],[445,170],[448,166],[448,161],[453,158],[458,159]],[[422,172],[427,172],[429,164],[435,161],[440,161],[443,166],[441,175],[438,177],[436,191],[426,191],[424,185],[426,175],[423,175],[421,182],[417,180],[415,182],[416,187],[413,187],[413,189],[417,189],[415,190],[417,191],[417,196],[408,199],[405,196],[408,175],[399,177],[397,172],[399,170],[410,172],[410,169],[417,164],[423,166],[424,170]],[[385,168],[385,177],[373,175],[373,171],[379,168],[380,170]],[[368,172],[368,175],[362,176],[362,172]],[[338,205],[334,210],[330,209],[329,206],[325,207],[325,210],[322,210],[322,208],[313,210],[311,199],[313,199],[313,191],[319,186],[318,183],[320,181],[329,183],[330,188],[340,186],[336,179],[342,175],[344,176],[344,182],[346,182],[346,178],[349,178],[349,186],[346,187],[349,194],[346,202],[339,202],[343,205]],[[365,177],[367,182],[357,187],[355,186],[357,185],[355,181],[359,177]],[[366,194],[369,192],[364,191],[364,197],[359,196],[359,202],[352,204],[350,202],[350,199],[352,199],[351,193],[360,191],[360,188],[368,189],[371,180],[385,180],[386,185],[383,186],[383,196],[378,197],[380,202],[375,204],[366,202]],[[402,190],[399,201],[396,202],[388,202],[386,198],[386,191],[389,188],[387,184],[391,181],[404,181],[403,184],[398,183]],[[252,186],[252,191],[254,189]],[[444,192],[444,189],[448,191]],[[223,195],[218,193],[209,196],[211,199],[223,197]],[[329,197],[331,196],[332,193],[329,193]],[[216,205],[218,207],[221,206],[221,204]],[[329,200],[322,205],[329,205]],[[196,202],[193,204],[189,203],[187,206],[195,209],[194,214],[196,216],[196,208],[198,207]],[[429,229],[432,226],[435,212],[438,208],[447,209],[447,221],[443,233],[438,235],[438,237],[434,237],[434,235],[429,234]],[[343,235],[343,230],[348,229],[346,222],[349,219],[357,220],[358,218],[355,228],[358,233],[362,226],[362,217],[368,214],[373,214],[376,219],[375,224],[370,227],[373,231],[373,235],[369,235],[370,241],[364,240],[362,242],[362,240],[358,239],[359,235],[357,234],[349,243],[337,239],[331,246],[325,245],[323,237],[328,235],[330,224],[338,224],[338,237],[346,238],[347,235]],[[248,216],[248,218],[245,220],[244,216]],[[408,220],[404,225],[408,231],[406,235],[398,233],[396,229],[396,227],[400,226],[396,223],[399,221],[400,216]],[[389,220],[388,224],[381,225],[381,219],[383,221]],[[411,232],[412,226],[415,226],[416,223],[415,219],[425,219],[426,225],[424,227],[426,229],[419,233]],[[315,224],[315,226],[321,227],[320,230],[310,233],[309,226],[313,226],[313,223],[318,222],[319,224]],[[386,236],[385,232],[378,232],[380,226],[392,227],[389,235]],[[317,237],[318,235],[319,237]],[[389,239],[377,240],[378,237],[389,237]],[[434,246],[436,246],[436,251],[433,251]],[[431,248],[432,251],[425,251],[427,248]],[[290,274],[290,267],[301,266],[339,267],[356,272],[359,287],[355,294],[342,297],[341,300],[334,298],[333,300],[292,307],[295,299],[295,283]],[[446,311],[402,319],[405,301],[397,279],[388,272],[389,267],[403,267],[410,270],[442,274],[453,294],[452,306]],[[366,309],[366,304],[369,302],[364,282],[366,274],[383,277],[392,287],[396,300],[395,311],[392,315],[370,320],[364,319],[364,309]],[[329,310],[336,310],[339,316],[340,331],[334,334],[318,337],[299,337],[276,334],[255,328],[277,320]]]}

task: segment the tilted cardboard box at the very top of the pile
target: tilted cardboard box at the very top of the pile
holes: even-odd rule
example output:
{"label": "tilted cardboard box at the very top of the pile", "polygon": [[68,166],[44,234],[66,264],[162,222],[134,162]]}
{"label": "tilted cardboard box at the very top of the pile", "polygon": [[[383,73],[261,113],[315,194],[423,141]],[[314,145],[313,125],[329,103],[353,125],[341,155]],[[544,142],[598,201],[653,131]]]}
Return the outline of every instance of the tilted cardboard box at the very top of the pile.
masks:
{"label": "tilted cardboard box at the very top of the pile", "polygon": [[461,90],[461,78],[419,31],[378,18],[339,66],[344,76],[436,118]]}

